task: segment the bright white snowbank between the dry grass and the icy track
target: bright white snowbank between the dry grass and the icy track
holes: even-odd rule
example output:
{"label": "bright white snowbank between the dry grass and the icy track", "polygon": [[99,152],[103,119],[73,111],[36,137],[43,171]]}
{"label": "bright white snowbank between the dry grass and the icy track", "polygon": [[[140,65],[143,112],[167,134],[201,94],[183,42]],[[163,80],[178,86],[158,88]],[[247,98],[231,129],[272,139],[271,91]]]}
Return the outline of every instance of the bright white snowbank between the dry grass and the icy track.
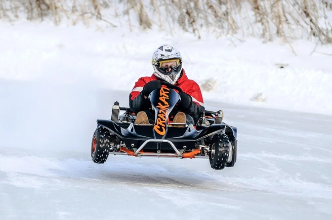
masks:
{"label": "bright white snowbank between the dry grass and the icy track", "polygon": [[[0,79],[128,92],[140,76],[152,74],[153,51],[169,43],[182,53],[183,68],[202,86],[205,100],[332,115],[332,45],[312,53],[315,42],[296,41],[295,56],[278,41],[179,35],[1,23]],[[251,100],[259,93],[264,102]]]}

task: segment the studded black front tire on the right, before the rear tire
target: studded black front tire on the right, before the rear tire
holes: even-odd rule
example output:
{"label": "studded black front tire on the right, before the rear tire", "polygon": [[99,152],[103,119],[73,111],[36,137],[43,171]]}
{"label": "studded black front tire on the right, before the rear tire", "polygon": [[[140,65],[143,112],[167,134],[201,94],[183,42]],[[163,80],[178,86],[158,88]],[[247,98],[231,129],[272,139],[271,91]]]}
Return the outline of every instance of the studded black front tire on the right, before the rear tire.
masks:
{"label": "studded black front tire on the right, before the rear tire", "polygon": [[210,165],[215,170],[222,170],[226,167],[229,150],[232,147],[226,134],[216,134],[210,146]]}

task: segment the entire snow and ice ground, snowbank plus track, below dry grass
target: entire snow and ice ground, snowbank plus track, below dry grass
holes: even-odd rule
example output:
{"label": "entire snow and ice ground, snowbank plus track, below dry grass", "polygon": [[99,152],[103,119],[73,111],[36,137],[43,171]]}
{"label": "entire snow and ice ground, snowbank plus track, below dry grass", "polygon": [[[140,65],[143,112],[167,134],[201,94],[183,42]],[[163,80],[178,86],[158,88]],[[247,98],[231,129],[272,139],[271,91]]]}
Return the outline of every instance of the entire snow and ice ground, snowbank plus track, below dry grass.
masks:
{"label": "entire snow and ice ground, snowbank plus track, below dry grass", "polygon": [[[1,219],[330,219],[332,51],[128,28],[0,23]],[[238,128],[238,161],[90,157],[96,119],[128,106],[163,43],[207,109]],[[323,54],[326,53],[326,54]],[[283,68],[280,68],[283,66]],[[255,95],[262,93],[256,100]]]}

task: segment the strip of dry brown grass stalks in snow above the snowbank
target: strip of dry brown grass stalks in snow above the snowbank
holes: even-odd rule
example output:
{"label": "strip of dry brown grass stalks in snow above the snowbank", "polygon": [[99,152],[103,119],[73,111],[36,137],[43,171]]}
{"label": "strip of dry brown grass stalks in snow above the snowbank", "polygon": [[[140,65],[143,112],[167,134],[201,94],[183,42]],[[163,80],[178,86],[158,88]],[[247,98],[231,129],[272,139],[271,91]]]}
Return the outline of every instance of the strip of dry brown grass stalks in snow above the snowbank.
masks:
{"label": "strip of dry brown grass stalks in snow above the snowbank", "polygon": [[[285,43],[298,38],[332,42],[332,0],[0,0],[0,19],[100,20],[112,27],[128,25],[176,34],[179,28],[201,38],[255,36]],[[112,22],[111,22],[112,21]]]}

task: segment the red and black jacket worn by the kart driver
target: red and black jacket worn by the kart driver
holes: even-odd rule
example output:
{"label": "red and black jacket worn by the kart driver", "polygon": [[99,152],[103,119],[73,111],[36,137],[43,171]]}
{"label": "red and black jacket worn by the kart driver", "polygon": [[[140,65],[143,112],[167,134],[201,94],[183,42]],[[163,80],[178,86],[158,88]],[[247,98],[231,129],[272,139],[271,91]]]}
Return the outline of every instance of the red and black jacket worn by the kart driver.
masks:
{"label": "red and black jacket worn by the kart driver", "polygon": [[[143,90],[144,85],[152,80],[160,79],[158,79],[155,75],[152,75],[151,77],[141,77],[135,83],[135,86],[129,95],[129,107],[132,112],[137,114],[140,111],[151,111],[150,100],[148,98],[145,99],[141,91]],[[189,107],[185,109],[184,113],[191,116],[194,120],[194,125],[196,125],[201,116],[201,112],[205,110],[203,96],[199,85],[195,81],[188,79],[184,69],[182,69],[181,77],[175,85],[179,86],[183,92],[191,96],[192,102]],[[174,117],[178,111],[179,108],[176,106],[170,113],[170,117]]]}

